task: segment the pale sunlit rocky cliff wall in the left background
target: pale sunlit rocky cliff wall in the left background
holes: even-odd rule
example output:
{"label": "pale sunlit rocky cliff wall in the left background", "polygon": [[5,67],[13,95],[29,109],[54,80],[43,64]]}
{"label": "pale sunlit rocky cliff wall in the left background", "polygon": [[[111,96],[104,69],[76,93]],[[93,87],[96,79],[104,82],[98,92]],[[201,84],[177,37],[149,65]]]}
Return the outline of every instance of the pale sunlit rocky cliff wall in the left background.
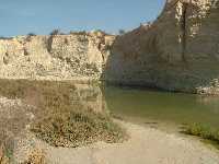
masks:
{"label": "pale sunlit rocky cliff wall in the left background", "polygon": [[114,37],[91,32],[0,39],[0,78],[99,80]]}

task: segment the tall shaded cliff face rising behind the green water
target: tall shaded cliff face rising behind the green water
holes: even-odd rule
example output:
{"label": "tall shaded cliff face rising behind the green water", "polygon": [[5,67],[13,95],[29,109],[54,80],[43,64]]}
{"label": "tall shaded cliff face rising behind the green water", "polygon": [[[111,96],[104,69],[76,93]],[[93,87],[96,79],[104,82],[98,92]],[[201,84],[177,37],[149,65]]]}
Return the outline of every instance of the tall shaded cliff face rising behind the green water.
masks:
{"label": "tall shaded cliff face rising behind the green water", "polygon": [[116,38],[114,83],[195,92],[219,77],[219,2],[169,0],[153,24]]}

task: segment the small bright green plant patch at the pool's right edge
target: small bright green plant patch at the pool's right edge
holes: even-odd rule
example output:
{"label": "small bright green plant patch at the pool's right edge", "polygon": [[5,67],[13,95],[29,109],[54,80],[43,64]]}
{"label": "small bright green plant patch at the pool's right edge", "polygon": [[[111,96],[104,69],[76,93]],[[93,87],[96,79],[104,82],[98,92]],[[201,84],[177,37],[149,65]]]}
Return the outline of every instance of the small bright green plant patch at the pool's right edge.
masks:
{"label": "small bright green plant patch at the pool's right edge", "polygon": [[219,149],[219,129],[200,124],[192,124],[184,127],[183,133],[199,137]]}

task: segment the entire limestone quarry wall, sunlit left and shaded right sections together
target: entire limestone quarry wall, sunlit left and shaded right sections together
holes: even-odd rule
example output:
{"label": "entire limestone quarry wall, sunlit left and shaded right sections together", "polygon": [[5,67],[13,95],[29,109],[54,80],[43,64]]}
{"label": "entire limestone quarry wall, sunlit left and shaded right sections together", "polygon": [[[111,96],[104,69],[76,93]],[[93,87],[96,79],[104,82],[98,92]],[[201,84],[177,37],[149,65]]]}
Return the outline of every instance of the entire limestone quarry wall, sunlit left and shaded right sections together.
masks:
{"label": "entire limestone quarry wall, sunlit left and shaded right sections together", "polygon": [[218,17],[218,0],[168,0],[152,24],[122,36],[93,32],[0,39],[0,78],[105,79],[203,92],[199,86],[219,79]]}

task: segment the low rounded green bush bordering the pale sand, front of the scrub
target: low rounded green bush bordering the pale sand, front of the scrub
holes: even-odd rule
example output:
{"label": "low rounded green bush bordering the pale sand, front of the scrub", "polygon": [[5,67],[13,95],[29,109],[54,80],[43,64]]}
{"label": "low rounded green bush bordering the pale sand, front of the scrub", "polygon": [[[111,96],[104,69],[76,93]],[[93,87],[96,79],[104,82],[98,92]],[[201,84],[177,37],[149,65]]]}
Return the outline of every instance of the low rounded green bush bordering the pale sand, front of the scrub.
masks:
{"label": "low rounded green bush bordering the pale sand, front of the scrub", "polygon": [[94,112],[56,113],[33,125],[36,136],[55,147],[80,147],[96,141],[122,142],[125,131],[110,117]]}

